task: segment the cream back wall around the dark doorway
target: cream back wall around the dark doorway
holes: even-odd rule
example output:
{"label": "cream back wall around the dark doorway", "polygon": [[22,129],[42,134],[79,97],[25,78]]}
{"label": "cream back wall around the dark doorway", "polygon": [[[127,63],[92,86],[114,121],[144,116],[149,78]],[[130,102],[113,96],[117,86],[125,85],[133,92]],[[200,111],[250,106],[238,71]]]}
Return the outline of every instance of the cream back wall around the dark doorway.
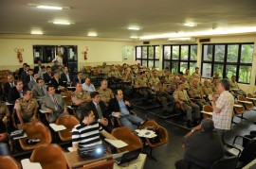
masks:
{"label": "cream back wall around the dark doorway", "polygon": [[[132,42],[118,41],[85,41],[85,40],[39,40],[39,39],[0,39],[0,69],[14,70],[21,67],[15,48],[22,48],[24,62],[33,65],[33,45],[77,45],[79,66],[89,62],[122,61],[122,47],[133,45]],[[87,60],[82,52],[88,47]]]}

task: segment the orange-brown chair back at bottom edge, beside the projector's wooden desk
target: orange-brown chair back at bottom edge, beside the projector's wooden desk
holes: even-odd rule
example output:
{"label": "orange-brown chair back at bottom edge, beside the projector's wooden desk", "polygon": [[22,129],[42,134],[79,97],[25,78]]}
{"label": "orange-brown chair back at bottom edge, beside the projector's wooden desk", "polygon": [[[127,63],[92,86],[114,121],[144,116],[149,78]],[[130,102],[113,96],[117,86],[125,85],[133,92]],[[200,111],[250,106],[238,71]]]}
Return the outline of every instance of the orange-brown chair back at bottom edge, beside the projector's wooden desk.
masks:
{"label": "orange-brown chair back at bottom edge, beside the projector's wooden desk", "polygon": [[64,150],[58,144],[47,144],[34,149],[30,161],[39,162],[44,169],[67,169]]}

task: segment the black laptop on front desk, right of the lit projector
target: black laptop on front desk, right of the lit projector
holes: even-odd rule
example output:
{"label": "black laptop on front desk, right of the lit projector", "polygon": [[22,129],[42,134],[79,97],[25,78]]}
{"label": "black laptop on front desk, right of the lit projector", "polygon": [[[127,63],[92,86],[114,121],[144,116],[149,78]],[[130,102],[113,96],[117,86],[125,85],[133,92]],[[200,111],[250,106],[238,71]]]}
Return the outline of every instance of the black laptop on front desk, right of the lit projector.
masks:
{"label": "black laptop on front desk, right of the lit projector", "polygon": [[140,152],[141,152],[141,148],[133,150],[133,151],[129,151],[127,153],[124,153],[121,157],[119,157],[115,160],[118,165],[123,164],[125,162],[134,161],[134,160],[137,160]]}

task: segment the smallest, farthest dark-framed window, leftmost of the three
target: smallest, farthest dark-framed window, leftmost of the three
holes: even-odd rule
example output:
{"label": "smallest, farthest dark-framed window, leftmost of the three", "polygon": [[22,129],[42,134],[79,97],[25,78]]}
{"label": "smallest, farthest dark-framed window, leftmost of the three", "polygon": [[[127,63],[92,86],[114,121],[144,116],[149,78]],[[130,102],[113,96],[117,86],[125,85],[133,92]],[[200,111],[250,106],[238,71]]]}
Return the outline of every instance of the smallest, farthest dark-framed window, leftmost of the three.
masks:
{"label": "smallest, farthest dark-framed window, leftmost of the three", "polygon": [[141,66],[159,68],[160,48],[158,45],[136,46],[136,60]]}

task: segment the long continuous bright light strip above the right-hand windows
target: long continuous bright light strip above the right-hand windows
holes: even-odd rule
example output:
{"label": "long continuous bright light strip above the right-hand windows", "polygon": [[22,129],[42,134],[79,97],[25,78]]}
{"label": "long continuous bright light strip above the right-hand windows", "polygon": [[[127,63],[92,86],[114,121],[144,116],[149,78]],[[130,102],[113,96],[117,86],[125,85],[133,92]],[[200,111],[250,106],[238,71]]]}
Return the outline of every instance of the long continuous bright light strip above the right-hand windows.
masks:
{"label": "long continuous bright light strip above the right-hand windows", "polygon": [[158,35],[142,36],[139,39],[149,40],[149,39],[176,38],[176,37],[196,37],[196,36],[205,36],[205,35],[229,35],[229,34],[240,34],[240,33],[250,33],[250,32],[256,32],[256,26],[229,28],[229,29],[217,28],[217,29],[210,29],[210,30],[200,31],[200,32],[165,33],[165,34],[158,34]]}

